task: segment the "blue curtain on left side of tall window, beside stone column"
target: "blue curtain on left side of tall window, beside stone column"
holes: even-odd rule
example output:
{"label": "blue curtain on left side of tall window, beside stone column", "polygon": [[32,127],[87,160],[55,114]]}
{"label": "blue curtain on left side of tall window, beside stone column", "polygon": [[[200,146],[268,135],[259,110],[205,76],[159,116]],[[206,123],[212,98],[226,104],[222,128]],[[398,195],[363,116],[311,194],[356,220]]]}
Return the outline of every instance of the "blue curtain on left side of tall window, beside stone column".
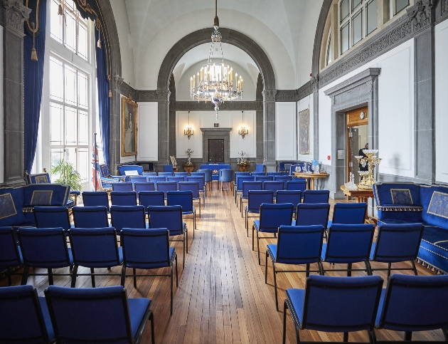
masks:
{"label": "blue curtain on left side of tall window, beside stone column", "polygon": [[[34,10],[33,10],[34,11]],[[36,51],[38,61],[31,61],[31,48],[33,48],[33,34],[26,30],[23,38],[23,80],[24,84],[24,169],[31,172],[39,129],[41,115],[43,61],[45,56],[45,34],[47,19],[47,1],[39,1],[39,26],[36,36]],[[30,16],[31,19],[31,16]],[[30,21],[31,22],[31,21]],[[25,23],[25,26],[27,24]]]}

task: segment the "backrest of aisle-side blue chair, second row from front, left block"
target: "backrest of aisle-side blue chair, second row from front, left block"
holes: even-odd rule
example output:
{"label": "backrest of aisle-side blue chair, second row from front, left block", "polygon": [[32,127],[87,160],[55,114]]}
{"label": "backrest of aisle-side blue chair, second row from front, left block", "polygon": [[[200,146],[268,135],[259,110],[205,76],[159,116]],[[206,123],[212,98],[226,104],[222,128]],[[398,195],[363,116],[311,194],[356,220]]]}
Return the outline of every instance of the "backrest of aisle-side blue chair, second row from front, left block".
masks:
{"label": "backrest of aisle-side blue chair, second row from front, left block", "polygon": [[120,238],[124,265],[128,268],[158,269],[170,266],[168,229],[124,228]]}

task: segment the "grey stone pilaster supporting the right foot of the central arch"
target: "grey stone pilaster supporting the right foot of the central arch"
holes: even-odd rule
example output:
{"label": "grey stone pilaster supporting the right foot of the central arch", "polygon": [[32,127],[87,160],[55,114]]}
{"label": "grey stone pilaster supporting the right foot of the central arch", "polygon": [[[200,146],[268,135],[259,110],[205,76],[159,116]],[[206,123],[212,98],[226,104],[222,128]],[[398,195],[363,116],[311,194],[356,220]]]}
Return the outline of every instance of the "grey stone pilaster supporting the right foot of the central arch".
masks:
{"label": "grey stone pilaster supporting the right foot of the central arch", "polygon": [[275,95],[277,90],[263,90],[263,142],[264,160],[267,172],[277,168],[275,160]]}

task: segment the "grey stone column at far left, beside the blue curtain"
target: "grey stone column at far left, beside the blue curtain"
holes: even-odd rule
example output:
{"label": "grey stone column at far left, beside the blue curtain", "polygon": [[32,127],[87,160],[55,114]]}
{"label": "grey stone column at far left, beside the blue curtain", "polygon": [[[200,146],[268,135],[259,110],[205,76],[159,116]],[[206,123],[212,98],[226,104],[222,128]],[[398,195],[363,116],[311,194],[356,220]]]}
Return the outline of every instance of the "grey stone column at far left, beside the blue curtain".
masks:
{"label": "grey stone column at far left, beside the blue curtain", "polygon": [[23,181],[23,22],[31,9],[23,1],[1,0],[4,7],[4,184]]}

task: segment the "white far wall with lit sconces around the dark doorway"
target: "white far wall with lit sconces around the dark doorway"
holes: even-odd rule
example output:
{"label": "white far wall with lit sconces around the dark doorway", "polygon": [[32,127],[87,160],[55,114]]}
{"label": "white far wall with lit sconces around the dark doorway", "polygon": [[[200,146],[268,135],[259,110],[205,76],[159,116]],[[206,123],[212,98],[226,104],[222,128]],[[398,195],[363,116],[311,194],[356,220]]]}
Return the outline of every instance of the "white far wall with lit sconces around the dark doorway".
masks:
{"label": "white far wall with lit sconces around the dark doorway", "polygon": [[[210,105],[211,106],[211,105]],[[219,127],[231,127],[230,131],[230,158],[239,157],[238,152],[244,151],[247,158],[257,156],[255,147],[255,111],[244,112],[244,125],[249,130],[249,135],[244,139],[238,135],[238,129],[242,125],[241,111],[219,111],[218,120],[215,119],[214,111],[191,111],[190,125],[194,134],[188,140],[183,130],[188,126],[188,111],[176,112],[176,157],[186,159],[185,151],[193,150],[193,159],[201,159],[202,151],[202,131],[203,128],[213,128],[214,123],[219,123]]]}

